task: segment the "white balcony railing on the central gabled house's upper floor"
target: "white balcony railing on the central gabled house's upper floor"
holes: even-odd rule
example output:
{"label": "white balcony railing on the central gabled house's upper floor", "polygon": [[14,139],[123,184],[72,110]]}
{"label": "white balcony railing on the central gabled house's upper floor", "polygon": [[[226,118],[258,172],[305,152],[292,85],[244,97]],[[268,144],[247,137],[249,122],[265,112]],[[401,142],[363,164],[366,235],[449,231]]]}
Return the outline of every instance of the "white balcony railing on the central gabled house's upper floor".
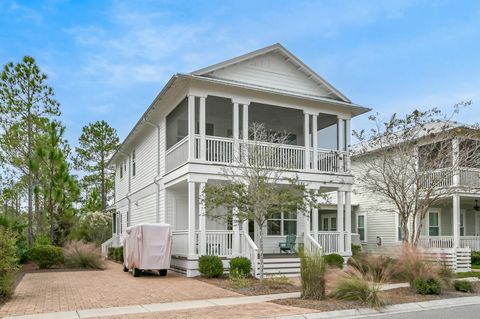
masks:
{"label": "white balcony railing on the central gabled house's upper floor", "polygon": [[[188,162],[188,137],[172,146],[166,153],[167,172]],[[206,136],[203,143],[199,135],[194,137],[194,159],[208,163],[231,164],[250,161],[251,165],[286,170],[314,170],[325,173],[347,173],[350,158],[347,152],[337,150],[309,150],[306,161],[306,148],[298,145],[261,143],[256,141],[234,140],[233,138]],[[306,166],[308,164],[308,166]]]}

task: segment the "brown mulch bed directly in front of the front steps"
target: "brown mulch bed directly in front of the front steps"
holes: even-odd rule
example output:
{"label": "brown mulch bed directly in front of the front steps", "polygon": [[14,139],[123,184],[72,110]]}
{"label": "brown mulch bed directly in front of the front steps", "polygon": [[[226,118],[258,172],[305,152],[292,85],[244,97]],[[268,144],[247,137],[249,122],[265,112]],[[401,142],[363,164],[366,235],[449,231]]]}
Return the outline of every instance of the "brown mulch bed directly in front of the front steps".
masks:
{"label": "brown mulch bed directly in front of the front steps", "polygon": [[258,279],[250,278],[247,279],[249,282],[248,287],[236,287],[228,278],[196,277],[196,279],[245,296],[258,296],[300,291],[300,287],[295,285],[293,281],[291,281],[290,284],[265,284]]}

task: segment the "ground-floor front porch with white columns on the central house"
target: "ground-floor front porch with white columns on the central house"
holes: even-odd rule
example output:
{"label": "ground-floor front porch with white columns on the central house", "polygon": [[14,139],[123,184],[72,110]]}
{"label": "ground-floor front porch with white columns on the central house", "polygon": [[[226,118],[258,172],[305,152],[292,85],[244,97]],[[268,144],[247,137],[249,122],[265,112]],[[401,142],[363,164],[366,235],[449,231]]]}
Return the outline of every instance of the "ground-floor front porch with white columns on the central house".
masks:
{"label": "ground-floor front porch with white columns on the central house", "polygon": [[[259,226],[253,221],[237,222],[235,215],[225,208],[222,212],[227,216],[225,220],[207,217],[201,200],[205,185],[184,180],[166,189],[166,221],[173,229],[172,255],[188,260],[196,260],[202,255],[225,259],[245,256],[257,265]],[[324,253],[350,256],[348,230],[351,229],[351,217],[346,217],[351,216],[350,191],[338,190],[336,193],[340,198],[336,214],[341,222],[336,223],[335,229],[318,230],[319,214],[316,209],[306,215],[280,213],[272,216],[264,226],[264,253],[280,254],[279,243],[285,242],[288,235],[295,235],[296,248],[306,245],[322,249]],[[294,252],[295,249],[291,251]]]}

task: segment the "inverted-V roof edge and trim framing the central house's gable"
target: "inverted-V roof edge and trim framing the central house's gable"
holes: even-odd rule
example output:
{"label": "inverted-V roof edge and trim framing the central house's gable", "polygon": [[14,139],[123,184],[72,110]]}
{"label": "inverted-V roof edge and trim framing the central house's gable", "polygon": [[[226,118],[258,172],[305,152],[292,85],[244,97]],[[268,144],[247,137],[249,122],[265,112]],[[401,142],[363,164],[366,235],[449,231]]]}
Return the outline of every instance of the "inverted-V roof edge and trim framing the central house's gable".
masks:
{"label": "inverted-V roof edge and trim framing the central house's gable", "polygon": [[308,79],[312,80],[317,85],[324,88],[325,91],[329,93],[330,98],[351,103],[351,101],[345,95],[343,95],[340,91],[334,88],[330,83],[328,83],[315,71],[309,68],[305,63],[303,63],[299,58],[297,58],[293,53],[288,51],[280,43],[276,43],[268,47],[252,51],[250,53],[240,55],[233,59],[229,59],[214,65],[211,65],[209,67],[191,72],[190,74],[196,75],[196,76],[215,77],[215,72],[217,71],[224,70],[232,66],[238,65],[242,62],[253,60],[257,57],[265,56],[271,53],[281,54],[285,58],[285,61],[287,63],[293,64],[299,71],[303,72]]}

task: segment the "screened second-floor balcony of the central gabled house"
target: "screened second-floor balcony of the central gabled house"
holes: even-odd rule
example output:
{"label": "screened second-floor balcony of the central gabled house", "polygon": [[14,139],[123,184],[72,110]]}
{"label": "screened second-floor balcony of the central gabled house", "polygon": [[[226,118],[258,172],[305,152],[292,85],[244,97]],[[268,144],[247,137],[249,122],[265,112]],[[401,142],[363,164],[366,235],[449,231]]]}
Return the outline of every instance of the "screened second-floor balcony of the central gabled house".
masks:
{"label": "screened second-floor balcony of the central gabled house", "polygon": [[[253,123],[283,143],[254,140]],[[349,120],[323,113],[219,97],[188,97],[167,116],[165,170],[185,163],[230,165],[261,161],[272,169],[346,174]],[[253,156],[252,156],[253,155]]]}

